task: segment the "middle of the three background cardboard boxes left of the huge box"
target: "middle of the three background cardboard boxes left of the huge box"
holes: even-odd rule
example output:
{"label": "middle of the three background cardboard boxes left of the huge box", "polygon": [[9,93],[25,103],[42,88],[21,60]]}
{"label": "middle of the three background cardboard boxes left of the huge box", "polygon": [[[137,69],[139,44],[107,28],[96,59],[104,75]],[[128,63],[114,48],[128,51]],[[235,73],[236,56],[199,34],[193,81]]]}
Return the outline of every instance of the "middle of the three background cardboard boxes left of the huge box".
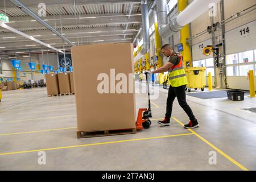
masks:
{"label": "middle of the three background cardboard boxes left of the huge box", "polygon": [[59,80],[60,94],[71,93],[69,73],[57,73]]}

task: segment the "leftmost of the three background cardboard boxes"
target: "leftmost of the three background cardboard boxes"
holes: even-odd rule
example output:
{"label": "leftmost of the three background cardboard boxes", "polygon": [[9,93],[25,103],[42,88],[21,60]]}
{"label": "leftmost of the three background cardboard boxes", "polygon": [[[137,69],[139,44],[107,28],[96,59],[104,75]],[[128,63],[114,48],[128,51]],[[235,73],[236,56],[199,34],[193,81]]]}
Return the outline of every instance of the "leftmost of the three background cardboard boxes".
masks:
{"label": "leftmost of the three background cardboard boxes", "polygon": [[46,86],[48,96],[60,93],[58,77],[56,73],[50,73],[46,75]]}

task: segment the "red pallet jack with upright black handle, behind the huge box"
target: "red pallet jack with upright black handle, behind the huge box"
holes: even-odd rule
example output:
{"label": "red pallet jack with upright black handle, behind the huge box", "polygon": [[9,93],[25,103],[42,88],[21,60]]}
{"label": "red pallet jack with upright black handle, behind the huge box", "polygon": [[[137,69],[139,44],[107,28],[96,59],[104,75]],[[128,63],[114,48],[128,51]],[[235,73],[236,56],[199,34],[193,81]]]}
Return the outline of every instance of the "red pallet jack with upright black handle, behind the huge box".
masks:
{"label": "red pallet jack with upright black handle, behind the huge box", "polygon": [[149,81],[148,81],[148,73],[146,74],[147,81],[147,95],[148,95],[148,109],[147,108],[139,108],[138,117],[136,121],[136,129],[142,130],[150,128],[151,121],[149,118],[152,118],[151,114],[151,105],[150,105],[150,91],[149,91]]}

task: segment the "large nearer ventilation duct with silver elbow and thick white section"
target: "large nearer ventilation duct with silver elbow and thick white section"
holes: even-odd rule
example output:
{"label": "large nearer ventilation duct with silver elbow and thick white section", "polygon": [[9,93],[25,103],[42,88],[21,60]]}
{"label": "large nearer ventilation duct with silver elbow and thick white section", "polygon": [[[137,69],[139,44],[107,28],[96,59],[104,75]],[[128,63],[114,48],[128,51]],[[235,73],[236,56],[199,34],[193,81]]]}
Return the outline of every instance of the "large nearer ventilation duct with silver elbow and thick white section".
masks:
{"label": "large nearer ventilation duct with silver elbow and thick white section", "polygon": [[194,0],[185,10],[172,19],[167,24],[166,0],[156,0],[156,12],[158,15],[159,34],[163,38],[168,38],[183,26],[191,23],[205,11],[209,10],[211,3],[217,3],[220,0]]}

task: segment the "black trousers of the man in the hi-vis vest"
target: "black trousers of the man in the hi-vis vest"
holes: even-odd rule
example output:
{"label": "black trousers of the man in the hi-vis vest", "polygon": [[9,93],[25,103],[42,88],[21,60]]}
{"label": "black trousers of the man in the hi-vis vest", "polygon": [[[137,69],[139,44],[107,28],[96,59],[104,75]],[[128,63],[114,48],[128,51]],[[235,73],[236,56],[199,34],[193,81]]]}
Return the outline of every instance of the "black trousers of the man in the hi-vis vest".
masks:
{"label": "black trousers of the man in the hi-vis vest", "polygon": [[177,97],[177,100],[179,102],[179,105],[182,107],[182,109],[187,113],[189,119],[191,121],[195,120],[195,115],[193,114],[193,111],[189,107],[186,101],[186,93],[185,93],[185,87],[186,85],[178,86],[178,87],[172,87],[170,86],[168,91],[168,97],[167,97],[167,105],[166,105],[166,118],[170,118],[172,115],[172,104],[175,100],[175,97]]}

